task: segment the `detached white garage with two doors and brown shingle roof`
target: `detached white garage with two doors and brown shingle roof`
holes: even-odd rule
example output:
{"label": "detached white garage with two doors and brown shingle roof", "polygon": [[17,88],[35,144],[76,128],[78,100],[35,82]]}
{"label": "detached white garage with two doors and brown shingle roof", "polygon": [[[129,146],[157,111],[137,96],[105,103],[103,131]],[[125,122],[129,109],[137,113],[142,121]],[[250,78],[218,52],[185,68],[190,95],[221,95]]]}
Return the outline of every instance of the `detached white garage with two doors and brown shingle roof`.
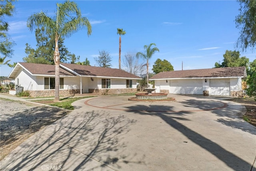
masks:
{"label": "detached white garage with two doors and brown shingle roof", "polygon": [[208,68],[160,72],[154,80],[156,93],[197,95],[242,95],[245,67]]}

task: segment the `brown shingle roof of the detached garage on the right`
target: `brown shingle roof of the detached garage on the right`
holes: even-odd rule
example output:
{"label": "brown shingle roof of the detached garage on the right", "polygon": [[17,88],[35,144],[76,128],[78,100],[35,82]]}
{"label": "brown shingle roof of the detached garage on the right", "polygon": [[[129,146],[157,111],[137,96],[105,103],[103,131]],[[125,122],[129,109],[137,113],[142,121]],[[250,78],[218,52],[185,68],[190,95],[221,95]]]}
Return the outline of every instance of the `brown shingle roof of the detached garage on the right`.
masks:
{"label": "brown shingle roof of the detached garage on the right", "polygon": [[207,77],[246,77],[245,67],[229,67],[229,68],[210,68],[198,70],[181,70],[160,72],[150,78],[168,79],[168,78],[207,78]]}

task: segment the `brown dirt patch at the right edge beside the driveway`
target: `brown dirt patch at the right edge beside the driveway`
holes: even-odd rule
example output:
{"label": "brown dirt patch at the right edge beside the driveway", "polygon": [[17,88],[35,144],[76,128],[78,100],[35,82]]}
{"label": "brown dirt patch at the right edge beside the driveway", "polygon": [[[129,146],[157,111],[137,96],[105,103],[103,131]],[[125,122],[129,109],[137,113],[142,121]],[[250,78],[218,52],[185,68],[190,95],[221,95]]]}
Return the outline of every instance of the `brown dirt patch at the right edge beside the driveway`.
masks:
{"label": "brown dirt patch at the right edge beside the driveway", "polygon": [[256,101],[253,97],[241,97],[227,100],[244,105],[246,107],[246,113],[244,114],[243,119],[256,127]]}

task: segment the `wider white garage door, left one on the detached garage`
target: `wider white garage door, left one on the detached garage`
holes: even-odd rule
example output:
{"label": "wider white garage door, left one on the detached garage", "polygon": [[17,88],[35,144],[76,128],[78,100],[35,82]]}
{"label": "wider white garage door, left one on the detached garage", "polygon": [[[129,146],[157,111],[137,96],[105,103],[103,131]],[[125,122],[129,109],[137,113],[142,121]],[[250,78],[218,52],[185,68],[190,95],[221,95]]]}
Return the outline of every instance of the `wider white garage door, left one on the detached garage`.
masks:
{"label": "wider white garage door, left one on the detached garage", "polygon": [[202,80],[170,80],[170,93],[203,94]]}

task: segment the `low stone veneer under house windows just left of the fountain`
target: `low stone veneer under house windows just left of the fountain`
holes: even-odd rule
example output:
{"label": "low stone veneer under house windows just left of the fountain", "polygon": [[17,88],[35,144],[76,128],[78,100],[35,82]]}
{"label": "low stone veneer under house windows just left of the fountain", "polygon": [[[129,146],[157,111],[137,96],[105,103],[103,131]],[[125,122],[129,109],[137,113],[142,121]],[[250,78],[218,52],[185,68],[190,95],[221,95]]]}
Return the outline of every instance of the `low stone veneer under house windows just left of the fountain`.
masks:
{"label": "low stone veneer under house windows just left of the fountain", "polygon": [[98,93],[102,95],[108,94],[123,94],[123,93],[136,93],[136,88],[122,88],[122,89],[89,89],[89,93]]}

